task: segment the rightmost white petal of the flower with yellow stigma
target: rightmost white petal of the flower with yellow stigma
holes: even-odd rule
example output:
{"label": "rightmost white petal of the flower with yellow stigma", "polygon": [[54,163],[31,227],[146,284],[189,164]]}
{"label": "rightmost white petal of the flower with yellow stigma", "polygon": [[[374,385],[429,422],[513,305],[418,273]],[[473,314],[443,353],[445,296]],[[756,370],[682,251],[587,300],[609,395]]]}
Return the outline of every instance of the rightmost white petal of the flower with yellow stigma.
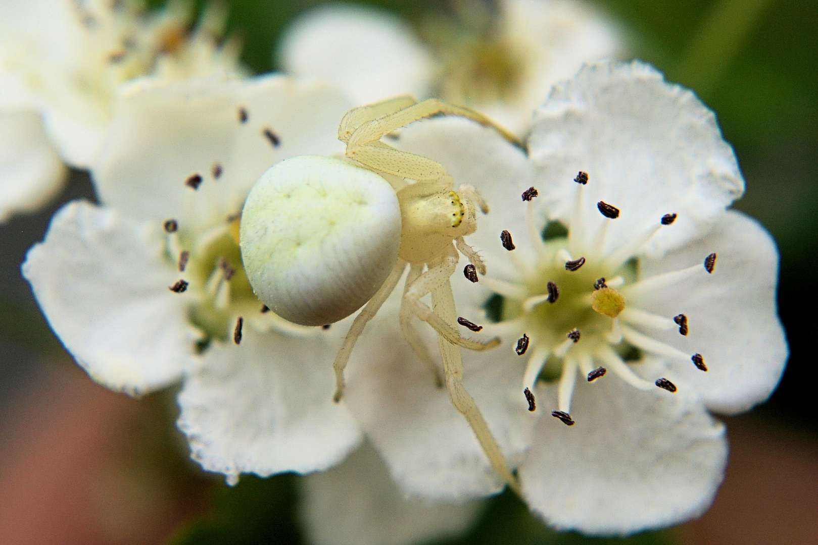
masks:
{"label": "rightmost white petal of the flower with yellow stigma", "polygon": [[658,315],[686,315],[686,337],[676,330],[644,333],[691,355],[703,355],[707,373],[692,362],[667,363],[696,387],[710,409],[743,413],[775,390],[788,356],[775,304],[778,251],[770,235],[752,218],[728,211],[703,239],[661,260],[640,261],[641,271],[649,278],[694,266],[711,252],[717,253],[712,275],[702,270],[701,275],[632,302]]}

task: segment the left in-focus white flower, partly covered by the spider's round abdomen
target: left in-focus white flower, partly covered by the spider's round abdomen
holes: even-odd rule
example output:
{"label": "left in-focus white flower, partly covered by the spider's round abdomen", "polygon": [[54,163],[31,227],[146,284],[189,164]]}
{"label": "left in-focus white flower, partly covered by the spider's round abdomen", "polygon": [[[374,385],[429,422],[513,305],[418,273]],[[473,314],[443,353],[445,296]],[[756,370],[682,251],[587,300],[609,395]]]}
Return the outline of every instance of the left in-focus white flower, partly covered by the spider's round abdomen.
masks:
{"label": "left in-focus white flower, partly covered by the spider's round abdomen", "polygon": [[143,80],[119,102],[92,170],[103,204],[65,205],[23,266],[97,382],[138,395],[187,373],[179,426],[193,457],[231,482],[324,469],[361,439],[332,402],[342,326],[302,328],[263,311],[236,215],[270,165],[343,150],[349,106],[276,75]]}

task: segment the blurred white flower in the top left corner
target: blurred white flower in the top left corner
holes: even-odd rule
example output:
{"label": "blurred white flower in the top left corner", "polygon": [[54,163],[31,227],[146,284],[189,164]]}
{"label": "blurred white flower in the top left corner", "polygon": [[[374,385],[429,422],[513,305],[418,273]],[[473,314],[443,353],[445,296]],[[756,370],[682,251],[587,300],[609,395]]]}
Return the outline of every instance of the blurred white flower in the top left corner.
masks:
{"label": "blurred white flower in the top left corner", "polygon": [[0,4],[0,221],[56,194],[63,162],[92,166],[121,83],[240,72],[236,43],[217,42],[225,14],[209,9],[187,34],[187,7],[144,16],[137,1]]}

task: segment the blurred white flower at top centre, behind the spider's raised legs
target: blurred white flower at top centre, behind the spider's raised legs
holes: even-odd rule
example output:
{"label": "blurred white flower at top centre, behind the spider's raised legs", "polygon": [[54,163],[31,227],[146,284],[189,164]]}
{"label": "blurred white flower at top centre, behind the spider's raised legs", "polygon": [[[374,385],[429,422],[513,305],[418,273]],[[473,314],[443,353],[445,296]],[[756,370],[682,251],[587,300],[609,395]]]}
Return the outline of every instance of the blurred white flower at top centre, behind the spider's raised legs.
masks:
{"label": "blurred white flower at top centre, behind the spider's raised legs", "polygon": [[523,134],[553,83],[622,51],[612,23],[582,2],[503,0],[497,14],[480,2],[457,6],[458,20],[428,25],[429,44],[397,17],[318,7],[285,34],[279,57],[290,74],[335,83],[359,104],[436,96]]}

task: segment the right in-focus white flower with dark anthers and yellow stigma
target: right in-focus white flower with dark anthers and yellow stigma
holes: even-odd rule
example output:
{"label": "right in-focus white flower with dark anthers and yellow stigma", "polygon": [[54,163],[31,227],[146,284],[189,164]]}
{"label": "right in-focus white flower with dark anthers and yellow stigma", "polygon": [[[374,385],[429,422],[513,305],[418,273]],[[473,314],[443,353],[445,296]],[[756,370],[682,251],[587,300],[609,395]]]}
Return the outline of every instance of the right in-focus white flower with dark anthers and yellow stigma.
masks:
{"label": "right in-focus white flower with dark anthers and yellow stigma", "polygon": [[[588,534],[699,515],[727,453],[724,426],[708,411],[766,400],[788,353],[775,243],[725,211],[744,181],[712,112],[647,65],[603,62],[537,109],[533,173],[513,150],[474,149],[482,130],[430,120],[396,145],[442,163],[492,208],[470,237],[488,276],[452,283],[461,315],[505,340],[465,358],[466,377],[497,377],[487,395],[473,392],[488,422],[536,406],[530,449],[509,456],[525,499],[550,525]],[[524,196],[531,186],[538,196]],[[420,482],[441,467],[420,437],[439,433],[442,418],[411,418],[435,412],[434,391],[383,360],[379,375],[356,376],[357,400],[350,381],[353,413],[403,489],[441,497],[443,487]],[[407,392],[404,413],[371,409],[373,398]]]}

